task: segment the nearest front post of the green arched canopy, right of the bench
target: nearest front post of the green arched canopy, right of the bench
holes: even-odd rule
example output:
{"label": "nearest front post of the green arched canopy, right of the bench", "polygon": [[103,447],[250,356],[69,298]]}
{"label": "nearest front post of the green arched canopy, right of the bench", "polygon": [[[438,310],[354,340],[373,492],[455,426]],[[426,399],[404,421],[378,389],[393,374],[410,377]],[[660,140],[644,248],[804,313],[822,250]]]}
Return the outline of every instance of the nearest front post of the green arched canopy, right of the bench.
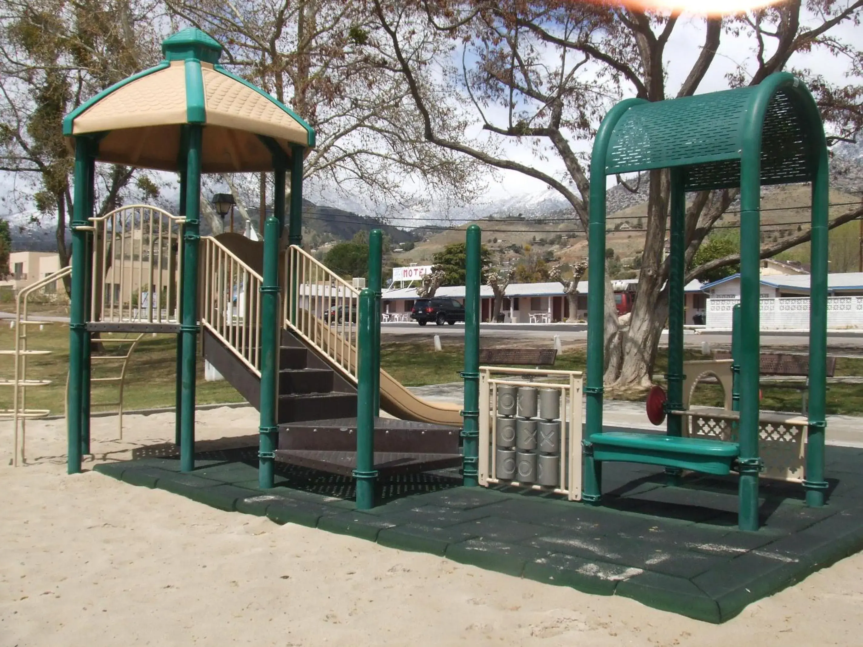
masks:
{"label": "nearest front post of the green arched canopy, right of the bench", "polygon": [[741,531],[759,527],[760,371],[760,136],[749,140],[740,159],[740,510]]}

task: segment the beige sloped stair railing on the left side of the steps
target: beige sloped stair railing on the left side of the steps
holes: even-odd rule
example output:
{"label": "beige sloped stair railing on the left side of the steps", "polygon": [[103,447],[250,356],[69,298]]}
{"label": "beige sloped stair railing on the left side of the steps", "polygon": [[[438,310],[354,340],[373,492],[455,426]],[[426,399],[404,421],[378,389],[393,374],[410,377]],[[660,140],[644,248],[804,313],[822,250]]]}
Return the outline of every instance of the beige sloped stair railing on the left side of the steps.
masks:
{"label": "beige sloped stair railing on the left side of the steps", "polygon": [[215,238],[201,242],[201,325],[261,377],[263,277]]}

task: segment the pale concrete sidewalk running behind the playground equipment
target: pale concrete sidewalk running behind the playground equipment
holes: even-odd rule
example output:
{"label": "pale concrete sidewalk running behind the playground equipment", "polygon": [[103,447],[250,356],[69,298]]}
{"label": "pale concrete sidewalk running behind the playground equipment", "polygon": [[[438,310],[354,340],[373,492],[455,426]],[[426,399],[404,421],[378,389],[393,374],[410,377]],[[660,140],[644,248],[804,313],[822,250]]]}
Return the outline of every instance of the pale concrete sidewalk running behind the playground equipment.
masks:
{"label": "pale concrete sidewalk running behind the playground equipment", "polygon": [[[462,382],[449,382],[431,386],[411,386],[410,391],[431,402],[463,404]],[[655,426],[647,420],[643,402],[606,399],[603,405],[603,422],[609,426],[629,429],[665,430],[665,423]],[[841,447],[863,448],[863,418],[857,416],[828,416],[827,443]]]}

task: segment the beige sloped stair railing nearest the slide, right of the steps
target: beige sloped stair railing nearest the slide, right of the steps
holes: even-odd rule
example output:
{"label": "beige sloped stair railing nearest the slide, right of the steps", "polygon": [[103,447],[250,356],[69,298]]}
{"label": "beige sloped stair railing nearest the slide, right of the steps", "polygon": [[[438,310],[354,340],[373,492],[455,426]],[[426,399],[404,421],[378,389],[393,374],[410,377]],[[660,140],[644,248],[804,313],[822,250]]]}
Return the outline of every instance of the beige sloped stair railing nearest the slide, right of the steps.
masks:
{"label": "beige sloped stair railing nearest the slide, right of the steps", "polygon": [[285,325],[356,383],[359,292],[295,245],[284,266]]}

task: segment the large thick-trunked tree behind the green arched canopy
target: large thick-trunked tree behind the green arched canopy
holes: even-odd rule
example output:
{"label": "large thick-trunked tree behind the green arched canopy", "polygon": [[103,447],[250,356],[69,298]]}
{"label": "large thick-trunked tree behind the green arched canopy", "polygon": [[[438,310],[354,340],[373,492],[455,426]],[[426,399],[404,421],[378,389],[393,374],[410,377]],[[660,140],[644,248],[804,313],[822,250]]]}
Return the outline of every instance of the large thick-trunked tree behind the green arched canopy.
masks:
{"label": "large thick-trunked tree behind the green arched canopy", "polygon": [[[860,71],[863,53],[835,29],[863,16],[863,0],[802,0],[727,18],[704,19],[702,43],[693,51],[690,72],[677,88],[666,87],[665,46],[677,27],[677,13],[660,14],[612,3],[563,3],[556,0],[369,0],[381,23],[381,51],[388,52],[410,89],[427,141],[498,169],[539,179],[559,192],[584,230],[589,226],[589,177],[579,141],[589,141],[606,111],[624,96],[649,101],[686,97],[698,91],[713,65],[723,37],[737,37],[753,51],[753,70],[740,69],[729,85],[760,83],[789,67],[798,52],[823,49]],[[432,47],[435,36],[450,43],[445,55]],[[856,43],[859,46],[859,41]],[[769,54],[768,54],[769,53]],[[430,65],[429,60],[437,65]],[[460,60],[460,65],[458,61]],[[443,73],[440,71],[443,70]],[[433,71],[433,72],[432,72]],[[792,69],[813,89],[834,130],[832,140],[850,139],[863,126],[863,86],[836,87],[807,70]],[[450,101],[461,122],[442,121],[441,102]],[[482,126],[482,136],[460,126]],[[553,155],[566,173],[546,173],[524,155],[504,153],[507,142],[531,149],[536,157]],[[509,144],[510,149],[513,144]],[[631,324],[620,329],[610,283],[606,286],[605,380],[609,389],[647,386],[668,311],[669,262],[663,257],[669,208],[669,174],[647,176],[646,238]],[[710,267],[739,260],[716,259],[692,267],[705,236],[736,198],[737,191],[694,195],[686,212],[686,280]],[[857,215],[855,215],[855,213]],[[857,217],[848,213],[833,225]],[[809,240],[809,231],[766,245],[768,256]]]}

